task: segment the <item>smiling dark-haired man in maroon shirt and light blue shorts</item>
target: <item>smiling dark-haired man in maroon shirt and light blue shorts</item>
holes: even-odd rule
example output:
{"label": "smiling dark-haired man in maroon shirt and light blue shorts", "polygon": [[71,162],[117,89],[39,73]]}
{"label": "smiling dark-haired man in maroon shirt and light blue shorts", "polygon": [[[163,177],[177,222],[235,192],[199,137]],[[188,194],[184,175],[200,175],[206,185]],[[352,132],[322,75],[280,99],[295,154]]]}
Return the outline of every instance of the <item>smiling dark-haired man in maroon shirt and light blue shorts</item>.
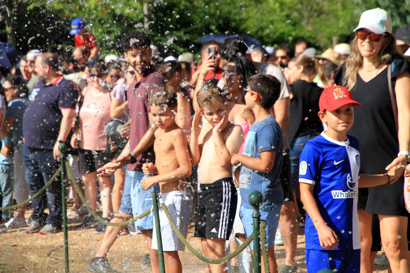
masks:
{"label": "smiling dark-haired man in maroon shirt and light blue shorts", "polygon": [[[110,222],[119,223],[126,221],[132,217],[130,210],[130,202],[132,204],[132,214],[134,217],[150,209],[152,206],[151,192],[159,192],[158,185],[151,187],[148,190],[141,188],[141,180],[145,178],[142,172],[142,164],[146,162],[155,162],[153,140],[150,137],[144,138],[144,134],[150,129],[150,124],[153,124],[150,117],[150,107],[148,100],[151,92],[158,87],[164,85],[164,77],[161,73],[155,71],[150,66],[150,49],[151,39],[143,32],[130,32],[126,34],[121,46],[124,49],[125,59],[135,69],[135,80],[128,87],[128,108],[130,110],[130,140],[118,156],[116,162],[109,162],[97,171],[102,173],[99,175],[112,175],[115,169],[128,164],[127,175],[130,176],[132,185],[127,185],[127,179],[124,185],[124,196],[121,199],[120,211],[112,218]],[[153,130],[149,130],[153,135]],[[152,132],[151,132],[152,131]],[[127,192],[130,191],[130,192]],[[148,200],[147,200],[148,199]],[[153,217],[148,215],[135,222],[135,227],[144,235],[148,251],[150,254],[151,264],[153,268],[159,268],[158,252],[151,249]],[[89,270],[93,272],[111,272],[113,270],[107,259],[109,248],[116,240],[117,235],[121,232],[121,226],[107,226],[103,241],[90,264]],[[90,269],[91,268],[91,269]]]}

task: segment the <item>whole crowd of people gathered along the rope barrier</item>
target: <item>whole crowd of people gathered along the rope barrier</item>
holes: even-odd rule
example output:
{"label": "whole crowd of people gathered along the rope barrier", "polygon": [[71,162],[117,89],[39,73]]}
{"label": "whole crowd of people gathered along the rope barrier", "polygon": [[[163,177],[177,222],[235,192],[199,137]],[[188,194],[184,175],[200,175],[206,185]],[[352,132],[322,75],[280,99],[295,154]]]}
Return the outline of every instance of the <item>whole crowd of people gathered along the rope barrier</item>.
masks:
{"label": "whole crowd of people gathered along the rope barrier", "polygon": [[[18,66],[1,68],[0,206],[38,193],[60,167],[66,143],[74,174],[67,214],[82,217],[76,230],[104,233],[92,272],[117,272],[107,254],[130,232],[142,233],[159,272],[152,214],[107,226],[90,211],[100,206],[106,222],[127,221],[151,208],[153,191],[182,235],[195,226],[210,258],[225,256],[227,240],[235,249],[253,232],[248,196],[259,191],[272,272],[297,272],[301,226],[308,272],[372,272],[381,246],[392,272],[410,272],[402,176],[410,148],[410,29],[393,34],[390,16],[371,9],[353,32],[350,44],[323,54],[306,40],[276,49],[248,47],[238,37],[208,41],[197,61],[191,52],[162,59],[139,31],[122,35],[118,55],[103,54],[75,18],[72,52],[31,50]],[[120,124],[114,131],[122,141],[107,133],[108,124]],[[0,233],[60,232],[60,179],[32,200],[28,219],[26,205],[3,210]],[[182,272],[185,246],[162,208],[160,219],[166,272]],[[282,268],[275,245],[285,245]],[[209,270],[252,272],[252,254],[253,244],[229,268]]]}

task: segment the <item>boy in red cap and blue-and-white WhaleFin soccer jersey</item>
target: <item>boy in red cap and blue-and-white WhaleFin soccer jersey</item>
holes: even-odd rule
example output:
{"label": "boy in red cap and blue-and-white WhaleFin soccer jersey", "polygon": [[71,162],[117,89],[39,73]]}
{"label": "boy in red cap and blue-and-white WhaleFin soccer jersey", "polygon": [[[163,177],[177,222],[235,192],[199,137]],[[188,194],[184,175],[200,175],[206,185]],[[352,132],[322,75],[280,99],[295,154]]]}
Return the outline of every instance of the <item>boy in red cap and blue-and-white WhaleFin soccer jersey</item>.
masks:
{"label": "boy in red cap and blue-and-white WhaleFin soccer jersey", "polygon": [[354,120],[353,105],[361,104],[346,88],[323,90],[318,114],[328,129],[308,141],[299,157],[307,272],[360,272],[358,187],[394,183],[403,174],[404,166],[360,175],[358,140],[346,135]]}

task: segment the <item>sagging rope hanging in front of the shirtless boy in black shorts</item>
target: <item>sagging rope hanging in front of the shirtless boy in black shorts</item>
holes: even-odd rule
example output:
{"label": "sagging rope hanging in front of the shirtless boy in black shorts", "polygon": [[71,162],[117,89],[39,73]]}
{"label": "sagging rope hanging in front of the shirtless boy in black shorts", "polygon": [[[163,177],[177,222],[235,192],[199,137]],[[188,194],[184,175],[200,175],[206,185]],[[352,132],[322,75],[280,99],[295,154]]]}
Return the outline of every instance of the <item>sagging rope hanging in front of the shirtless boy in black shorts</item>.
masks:
{"label": "sagging rope hanging in front of the shirtless boy in black shorts", "polygon": [[[198,259],[200,259],[203,262],[206,262],[208,264],[222,264],[224,262],[229,261],[230,259],[232,259],[233,257],[237,256],[239,253],[241,253],[249,244],[251,244],[251,241],[253,240],[253,233],[248,237],[248,239],[246,239],[246,241],[244,241],[243,244],[241,244],[241,246],[239,246],[237,248],[237,250],[235,250],[234,252],[230,253],[229,255],[219,258],[219,259],[211,259],[208,258],[202,254],[200,254],[198,251],[196,251],[195,248],[193,248],[191,246],[191,244],[189,244],[189,242],[187,241],[187,239],[185,239],[185,237],[182,235],[182,233],[180,232],[180,230],[178,230],[177,226],[175,225],[174,220],[171,217],[171,214],[169,214],[168,208],[166,207],[165,203],[162,201],[161,202],[161,207],[165,212],[166,217],[168,218],[169,222],[171,223],[171,227],[172,229],[175,231],[175,233],[178,235],[178,238],[182,241],[182,243],[189,249],[189,251],[191,251],[192,254],[194,254]],[[265,237],[266,237],[266,233],[265,233]]]}

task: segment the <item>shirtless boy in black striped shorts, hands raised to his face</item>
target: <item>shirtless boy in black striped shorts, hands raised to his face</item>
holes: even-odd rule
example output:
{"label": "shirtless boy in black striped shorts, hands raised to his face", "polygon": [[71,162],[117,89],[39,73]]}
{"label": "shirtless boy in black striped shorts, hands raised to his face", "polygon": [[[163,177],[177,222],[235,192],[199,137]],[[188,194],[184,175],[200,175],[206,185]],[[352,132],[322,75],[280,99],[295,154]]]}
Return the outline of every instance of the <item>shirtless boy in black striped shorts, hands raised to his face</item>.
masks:
{"label": "shirtless boy in black striped shorts, hands raised to his face", "polygon": [[[201,238],[207,257],[225,256],[225,240],[229,238],[235,218],[237,191],[232,180],[232,154],[242,144],[242,129],[228,122],[227,104],[221,90],[204,85],[197,94],[199,109],[191,129],[192,164],[200,163],[200,192],[195,236]],[[202,115],[207,120],[202,124]],[[223,272],[226,264],[208,264],[210,272]]]}

